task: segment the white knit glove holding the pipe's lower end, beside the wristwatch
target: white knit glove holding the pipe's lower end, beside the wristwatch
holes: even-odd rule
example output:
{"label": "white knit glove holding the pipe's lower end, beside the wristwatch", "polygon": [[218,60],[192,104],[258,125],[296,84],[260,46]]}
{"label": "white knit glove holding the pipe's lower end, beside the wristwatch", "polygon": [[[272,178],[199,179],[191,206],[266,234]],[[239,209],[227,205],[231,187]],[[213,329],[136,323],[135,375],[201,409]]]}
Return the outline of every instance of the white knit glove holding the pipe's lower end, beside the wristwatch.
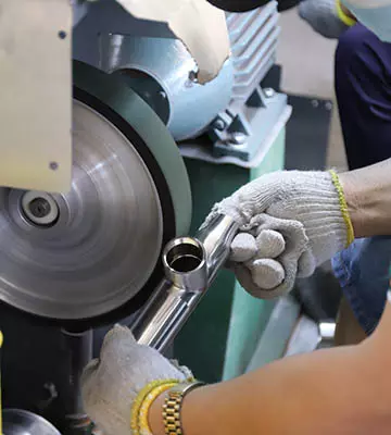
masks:
{"label": "white knit glove holding the pipe's lower end, beside the wristwatch", "polygon": [[[85,410],[104,435],[129,435],[133,411],[146,386],[154,381],[192,377],[156,350],[138,345],[127,327],[114,326],[104,338],[100,358],[81,377]],[[139,403],[140,405],[140,403]]]}

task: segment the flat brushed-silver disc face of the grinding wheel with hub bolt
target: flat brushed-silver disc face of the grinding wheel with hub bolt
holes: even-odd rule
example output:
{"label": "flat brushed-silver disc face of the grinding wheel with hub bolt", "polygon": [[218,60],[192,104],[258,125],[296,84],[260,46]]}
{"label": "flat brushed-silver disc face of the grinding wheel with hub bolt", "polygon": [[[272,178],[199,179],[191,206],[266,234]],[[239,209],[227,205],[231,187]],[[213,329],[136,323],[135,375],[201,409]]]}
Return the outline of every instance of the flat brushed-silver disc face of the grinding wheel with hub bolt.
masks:
{"label": "flat brushed-silver disc face of the grinding wheel with hub bolt", "polygon": [[[0,299],[55,319],[91,318],[127,302],[162,245],[157,191],[134,146],[77,101],[73,142],[68,194],[0,189]],[[46,225],[42,202],[31,215],[37,198],[55,208]]]}

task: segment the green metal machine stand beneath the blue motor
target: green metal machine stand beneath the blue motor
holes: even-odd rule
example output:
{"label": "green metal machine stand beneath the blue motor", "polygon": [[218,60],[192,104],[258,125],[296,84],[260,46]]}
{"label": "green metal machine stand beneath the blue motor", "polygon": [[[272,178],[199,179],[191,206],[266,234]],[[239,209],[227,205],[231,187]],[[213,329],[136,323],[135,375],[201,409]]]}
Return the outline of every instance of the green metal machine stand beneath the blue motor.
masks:
{"label": "green metal machine stand beneath the blue motor", "polygon": [[[240,186],[267,172],[282,169],[282,129],[255,169],[216,165],[186,159],[193,197],[191,234],[212,206]],[[175,340],[175,357],[199,378],[213,383],[245,371],[274,302],[247,295],[231,272],[222,271]],[[273,346],[273,343],[270,343]]]}

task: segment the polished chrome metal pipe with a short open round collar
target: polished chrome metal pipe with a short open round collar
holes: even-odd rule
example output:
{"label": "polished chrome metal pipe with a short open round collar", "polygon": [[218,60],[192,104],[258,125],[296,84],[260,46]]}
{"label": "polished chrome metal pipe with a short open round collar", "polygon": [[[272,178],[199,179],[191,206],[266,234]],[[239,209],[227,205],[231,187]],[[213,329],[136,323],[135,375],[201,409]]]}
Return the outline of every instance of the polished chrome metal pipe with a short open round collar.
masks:
{"label": "polished chrome metal pipe with a short open round collar", "polygon": [[166,245],[166,278],[130,325],[139,344],[164,351],[226,262],[238,231],[231,217],[217,215],[194,238],[179,237]]}

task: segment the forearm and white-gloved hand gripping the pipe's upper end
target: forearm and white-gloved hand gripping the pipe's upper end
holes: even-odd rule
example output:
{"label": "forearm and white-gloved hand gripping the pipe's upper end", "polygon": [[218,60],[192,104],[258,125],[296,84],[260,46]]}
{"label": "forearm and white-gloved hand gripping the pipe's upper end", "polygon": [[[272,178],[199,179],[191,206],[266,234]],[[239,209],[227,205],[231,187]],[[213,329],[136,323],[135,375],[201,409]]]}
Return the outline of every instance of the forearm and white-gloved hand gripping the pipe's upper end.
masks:
{"label": "forearm and white-gloved hand gripping the pipe's upper end", "polygon": [[261,298],[280,296],[354,237],[391,235],[391,159],[339,176],[266,174],[215,204],[206,222],[218,213],[230,215],[242,231],[230,256],[242,287]]}

